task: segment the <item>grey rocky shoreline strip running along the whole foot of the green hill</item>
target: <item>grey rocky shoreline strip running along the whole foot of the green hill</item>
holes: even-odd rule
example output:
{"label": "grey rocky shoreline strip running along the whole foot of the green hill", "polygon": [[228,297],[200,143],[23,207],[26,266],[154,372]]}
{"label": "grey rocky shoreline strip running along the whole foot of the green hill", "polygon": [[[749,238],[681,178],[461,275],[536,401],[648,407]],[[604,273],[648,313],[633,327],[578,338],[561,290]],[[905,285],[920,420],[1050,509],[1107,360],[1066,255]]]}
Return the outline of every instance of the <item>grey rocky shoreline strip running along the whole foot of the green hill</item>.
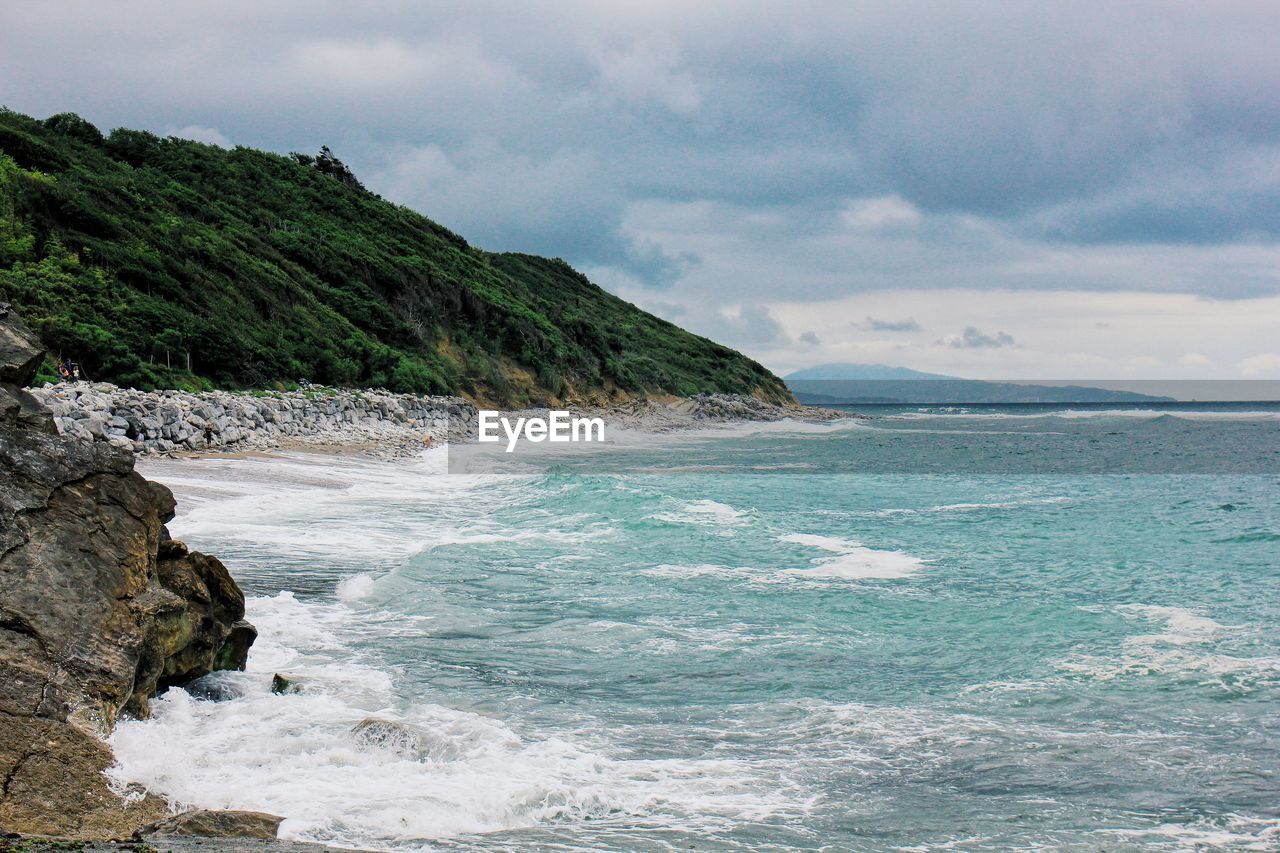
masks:
{"label": "grey rocky shoreline strip running along the whole foot of the green hill", "polygon": [[[101,442],[138,457],[228,457],[271,452],[412,456],[425,447],[475,439],[479,409],[461,397],[397,394],[381,389],[310,388],[292,392],[142,392],[109,383],[32,388],[61,435]],[[744,394],[636,398],[567,405],[575,416],[611,429],[672,433],[739,423],[859,419],[850,411],[785,406]],[[547,407],[504,410],[547,415]]]}

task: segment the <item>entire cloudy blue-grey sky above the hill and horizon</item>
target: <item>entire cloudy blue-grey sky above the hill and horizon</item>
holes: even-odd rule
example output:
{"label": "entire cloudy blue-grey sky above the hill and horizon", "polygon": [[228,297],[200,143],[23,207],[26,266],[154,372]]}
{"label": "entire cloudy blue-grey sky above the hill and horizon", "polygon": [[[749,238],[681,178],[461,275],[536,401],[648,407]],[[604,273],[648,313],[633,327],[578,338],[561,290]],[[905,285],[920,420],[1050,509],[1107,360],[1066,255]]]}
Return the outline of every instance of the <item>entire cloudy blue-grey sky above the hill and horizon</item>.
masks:
{"label": "entire cloudy blue-grey sky above the hill and horizon", "polygon": [[329,145],[778,373],[1280,378],[1275,3],[0,6],[0,104]]}

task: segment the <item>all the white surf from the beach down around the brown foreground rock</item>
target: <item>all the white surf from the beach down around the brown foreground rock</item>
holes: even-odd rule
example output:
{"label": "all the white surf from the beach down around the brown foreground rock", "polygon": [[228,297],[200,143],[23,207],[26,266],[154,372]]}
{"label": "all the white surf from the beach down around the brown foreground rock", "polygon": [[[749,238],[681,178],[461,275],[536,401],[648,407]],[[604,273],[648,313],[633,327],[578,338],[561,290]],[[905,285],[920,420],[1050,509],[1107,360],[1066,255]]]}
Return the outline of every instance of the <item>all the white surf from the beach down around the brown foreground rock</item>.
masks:
{"label": "all the white surf from the beach down around the brown foreground rock", "polygon": [[[394,672],[360,651],[376,648],[370,640],[387,630],[433,629],[430,616],[369,610],[388,562],[452,544],[609,535],[608,524],[581,517],[518,529],[495,521],[495,502],[536,511],[545,491],[531,494],[530,478],[308,455],[269,465],[183,460],[146,467],[157,479],[183,480],[172,529],[196,547],[239,547],[252,560],[303,573],[316,556],[356,571],[328,601],[289,592],[251,598],[247,617],[260,635],[247,671],[210,676],[237,698],[210,702],[174,689],[152,703],[151,719],[120,722],[111,736],[116,784],[141,783],[179,806],[283,815],[284,838],[360,847],[604,817],[699,826],[796,808],[794,792],[762,779],[751,762],[632,760],[613,754],[603,725],[584,722],[586,731],[566,735],[398,695]],[[746,515],[714,502],[692,502],[686,514],[721,525]],[[584,634],[618,630],[594,625]],[[271,693],[274,672],[298,690]],[[366,716],[415,726],[422,753],[357,743],[351,729]]]}

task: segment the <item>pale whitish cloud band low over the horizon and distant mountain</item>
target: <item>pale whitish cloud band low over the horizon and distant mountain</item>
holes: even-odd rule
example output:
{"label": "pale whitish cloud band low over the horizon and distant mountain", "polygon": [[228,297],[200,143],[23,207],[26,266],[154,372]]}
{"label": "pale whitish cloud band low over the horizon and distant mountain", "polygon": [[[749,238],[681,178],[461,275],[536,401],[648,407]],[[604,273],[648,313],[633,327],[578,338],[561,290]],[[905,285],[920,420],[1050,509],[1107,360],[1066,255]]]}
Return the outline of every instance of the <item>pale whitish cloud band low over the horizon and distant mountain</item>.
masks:
{"label": "pale whitish cloud band low over the horizon and distant mountain", "polygon": [[[899,336],[851,330],[850,316],[884,310],[913,311],[924,328],[945,328],[974,310],[979,329],[1004,330],[1014,346],[929,346]],[[703,302],[690,305],[682,323],[696,325]],[[1275,355],[1280,296],[1204,300],[1185,293],[1076,291],[882,291],[826,301],[795,301],[777,295],[765,304],[782,327],[767,345],[730,341],[776,371],[822,362],[888,364],[929,373],[987,379],[1208,379],[1242,375],[1280,378],[1268,368]],[[1102,319],[1107,328],[1098,328]],[[705,329],[700,329],[704,333]],[[814,332],[820,343],[796,341]],[[1188,352],[1213,365],[1180,364]],[[1260,357],[1261,353],[1261,357]],[[1253,374],[1244,374],[1252,369]],[[1271,373],[1267,373],[1267,371]]]}

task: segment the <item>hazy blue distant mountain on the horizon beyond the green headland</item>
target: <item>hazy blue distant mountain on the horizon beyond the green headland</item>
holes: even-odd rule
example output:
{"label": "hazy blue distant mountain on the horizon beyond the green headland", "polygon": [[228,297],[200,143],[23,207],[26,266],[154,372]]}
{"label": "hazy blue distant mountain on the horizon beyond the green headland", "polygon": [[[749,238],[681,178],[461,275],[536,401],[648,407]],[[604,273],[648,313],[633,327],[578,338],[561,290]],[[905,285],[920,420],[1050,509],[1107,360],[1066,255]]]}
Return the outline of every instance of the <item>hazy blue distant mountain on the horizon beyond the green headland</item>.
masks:
{"label": "hazy blue distant mountain on the horizon beyond the green headland", "polygon": [[810,406],[850,403],[1133,403],[1172,402],[1130,391],[1088,386],[960,379],[882,364],[823,364],[786,377],[796,400]]}

